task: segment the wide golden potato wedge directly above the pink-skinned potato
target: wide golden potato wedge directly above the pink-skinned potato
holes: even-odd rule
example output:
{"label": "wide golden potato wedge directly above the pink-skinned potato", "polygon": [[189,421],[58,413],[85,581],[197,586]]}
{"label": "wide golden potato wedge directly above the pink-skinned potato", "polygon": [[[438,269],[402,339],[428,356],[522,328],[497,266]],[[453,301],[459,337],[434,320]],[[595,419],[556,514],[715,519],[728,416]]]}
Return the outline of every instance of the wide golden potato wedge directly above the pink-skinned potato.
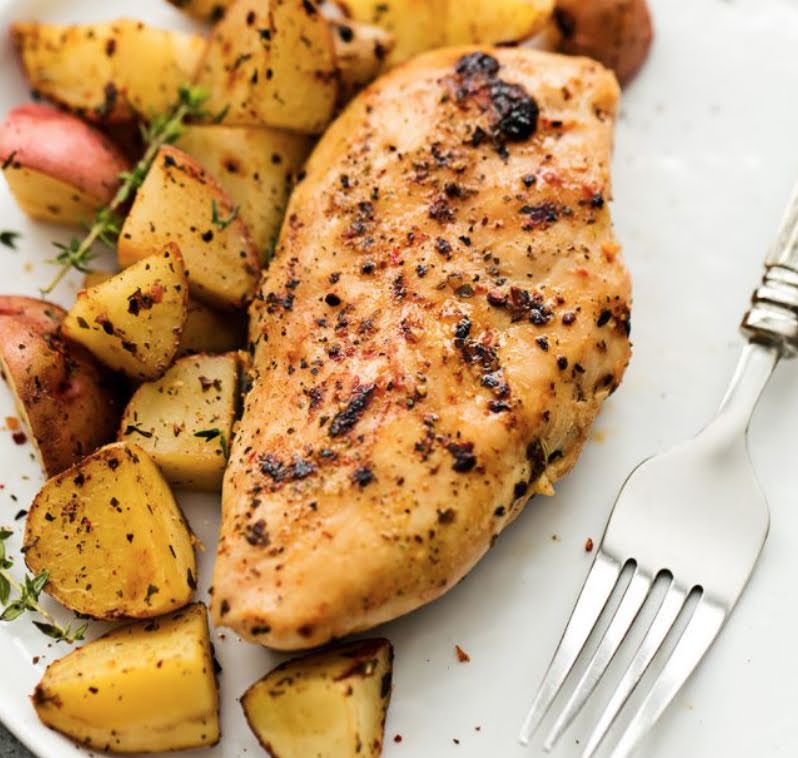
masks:
{"label": "wide golden potato wedge directly above the pink-skinned potato", "polygon": [[34,90],[101,122],[168,110],[205,47],[200,36],[131,19],[82,26],[19,22],[11,36]]}

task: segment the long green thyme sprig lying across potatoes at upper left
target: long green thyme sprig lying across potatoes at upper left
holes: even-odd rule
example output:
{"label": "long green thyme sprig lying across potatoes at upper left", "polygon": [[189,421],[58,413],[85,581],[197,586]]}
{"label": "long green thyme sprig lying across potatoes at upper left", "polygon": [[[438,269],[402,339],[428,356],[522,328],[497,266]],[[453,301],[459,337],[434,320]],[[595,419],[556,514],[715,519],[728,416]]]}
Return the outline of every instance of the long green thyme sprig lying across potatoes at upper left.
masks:
{"label": "long green thyme sprig lying across potatoes at upper left", "polygon": [[169,112],[155,116],[142,128],[144,142],[147,145],[144,155],[131,171],[123,171],[119,175],[121,181],[119,189],[111,202],[97,211],[86,236],[83,239],[73,238],[67,244],[53,243],[60,252],[49,262],[61,268],[50,284],[42,290],[43,295],[52,292],[70,269],[75,268],[84,273],[90,271],[89,264],[96,257],[92,252],[92,245],[95,242],[99,240],[109,247],[116,244],[122,227],[122,219],[117,211],[141,187],[158,150],[163,145],[172,144],[183,133],[187,118],[202,114],[202,104],[206,98],[207,93],[204,90],[184,85],[178,90],[177,103]]}

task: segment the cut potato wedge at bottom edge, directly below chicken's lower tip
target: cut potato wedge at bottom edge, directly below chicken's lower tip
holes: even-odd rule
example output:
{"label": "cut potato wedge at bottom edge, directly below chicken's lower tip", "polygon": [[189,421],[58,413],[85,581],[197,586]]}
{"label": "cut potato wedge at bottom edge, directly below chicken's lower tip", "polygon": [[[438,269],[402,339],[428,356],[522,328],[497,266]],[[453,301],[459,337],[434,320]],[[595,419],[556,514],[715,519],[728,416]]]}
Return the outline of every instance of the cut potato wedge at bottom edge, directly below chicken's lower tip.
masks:
{"label": "cut potato wedge at bottom edge, directly below chicken's lower tip", "polygon": [[279,758],[379,758],[393,647],[369,639],[281,663],[241,698],[266,752]]}

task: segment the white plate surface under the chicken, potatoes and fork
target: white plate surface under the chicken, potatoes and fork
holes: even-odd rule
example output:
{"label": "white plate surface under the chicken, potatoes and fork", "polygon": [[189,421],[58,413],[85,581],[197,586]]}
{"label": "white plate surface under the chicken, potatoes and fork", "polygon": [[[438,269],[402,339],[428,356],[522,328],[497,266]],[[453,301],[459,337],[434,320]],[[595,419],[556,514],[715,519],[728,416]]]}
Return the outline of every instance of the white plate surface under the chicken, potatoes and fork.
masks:
{"label": "white plate surface under the chicken, potatoes and fork", "polygon": [[[598,542],[635,463],[704,423],[737,358],[737,323],[798,177],[798,2],[657,0],[654,11],[653,54],[624,94],[616,139],[613,214],[635,285],[635,354],[626,381],[558,494],[533,501],[444,599],[378,630],[396,646],[386,758],[538,754],[539,743],[524,751],[515,737],[590,565],[586,538]],[[1,26],[15,17],[88,21],[123,13],[181,23],[162,0],[0,0]],[[5,36],[2,45],[4,113],[26,90]],[[66,233],[34,228],[5,185],[0,227],[24,235],[19,252],[0,248],[0,289],[36,295],[52,275],[44,263],[52,255],[49,240]],[[64,287],[59,299],[68,304],[73,292]],[[797,383],[798,365],[782,365],[752,427],[751,451],[772,510],[759,568],[642,755],[798,755]],[[0,420],[10,414],[11,400],[0,390]],[[0,481],[0,523],[11,523],[40,474],[30,447],[15,446],[5,431]],[[181,502],[209,548],[201,557],[205,589],[218,499]],[[14,527],[20,532],[22,523]],[[224,667],[224,738],[204,755],[257,755],[237,697],[277,656],[224,636],[215,640]],[[455,643],[471,654],[470,663],[456,661]],[[0,717],[47,758],[84,754],[40,726],[27,699],[47,663],[64,652],[25,620],[0,625]],[[37,665],[34,655],[42,656]],[[575,742],[585,737],[580,719],[556,755],[578,755]]]}

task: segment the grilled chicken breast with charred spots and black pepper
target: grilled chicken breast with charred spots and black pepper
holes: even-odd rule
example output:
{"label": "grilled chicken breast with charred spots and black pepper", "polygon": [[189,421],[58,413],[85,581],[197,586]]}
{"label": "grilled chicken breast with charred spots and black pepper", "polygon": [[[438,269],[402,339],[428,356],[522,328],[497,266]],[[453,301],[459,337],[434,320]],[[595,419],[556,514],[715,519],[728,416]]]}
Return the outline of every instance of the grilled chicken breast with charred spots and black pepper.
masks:
{"label": "grilled chicken breast with charred spots and black pepper", "polygon": [[407,613],[571,468],[629,359],[617,98],[588,59],[445,49],[330,127],[251,312],[217,624],[293,650]]}

